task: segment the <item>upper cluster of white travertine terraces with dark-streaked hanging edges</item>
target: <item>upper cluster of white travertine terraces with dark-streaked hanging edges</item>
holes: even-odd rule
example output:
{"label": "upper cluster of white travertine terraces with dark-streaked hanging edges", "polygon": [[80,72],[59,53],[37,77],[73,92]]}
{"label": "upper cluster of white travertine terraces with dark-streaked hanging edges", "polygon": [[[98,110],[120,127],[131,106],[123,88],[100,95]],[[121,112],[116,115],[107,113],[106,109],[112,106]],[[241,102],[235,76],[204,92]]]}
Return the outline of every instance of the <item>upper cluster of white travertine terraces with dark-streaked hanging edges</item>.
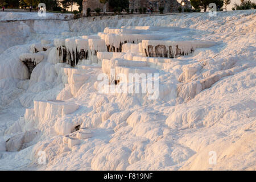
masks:
{"label": "upper cluster of white travertine terraces with dark-streaked hanging edges", "polygon": [[[166,31],[179,30],[181,28],[149,26],[105,28],[97,35],[68,38],[65,43],[63,39],[55,39],[54,44],[59,62],[72,67],[86,59],[92,61],[90,64],[100,65],[104,59],[133,60],[133,56],[175,58],[193,53],[196,48],[215,45],[212,42],[163,40],[167,38]],[[158,34],[153,34],[154,31]]]}

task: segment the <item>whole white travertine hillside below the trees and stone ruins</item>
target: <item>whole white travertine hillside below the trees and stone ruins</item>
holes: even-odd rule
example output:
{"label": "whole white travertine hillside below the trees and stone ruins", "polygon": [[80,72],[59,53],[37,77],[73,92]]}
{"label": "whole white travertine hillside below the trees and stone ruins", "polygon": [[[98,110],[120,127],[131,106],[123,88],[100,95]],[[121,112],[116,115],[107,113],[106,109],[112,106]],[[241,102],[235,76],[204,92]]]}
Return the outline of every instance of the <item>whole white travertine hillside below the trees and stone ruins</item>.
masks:
{"label": "whole white travertine hillside below the trees and stone ruins", "polygon": [[[58,28],[36,22],[53,35],[46,30],[31,37],[28,31],[24,41],[55,47],[38,53],[44,57],[35,58],[42,61],[30,80],[22,76],[27,68],[19,56],[35,57],[22,55],[31,44],[1,54],[1,168],[30,168],[42,150],[48,163],[37,167],[49,170],[255,170],[255,12],[243,12],[214,19],[204,13],[104,16]],[[26,22],[21,27],[31,28]],[[111,80],[102,84],[104,73]],[[130,73],[134,83],[120,76]],[[112,92],[146,88],[143,76],[152,73],[152,85],[159,83],[154,100],[152,92]],[[212,150],[217,164],[209,166]]]}

